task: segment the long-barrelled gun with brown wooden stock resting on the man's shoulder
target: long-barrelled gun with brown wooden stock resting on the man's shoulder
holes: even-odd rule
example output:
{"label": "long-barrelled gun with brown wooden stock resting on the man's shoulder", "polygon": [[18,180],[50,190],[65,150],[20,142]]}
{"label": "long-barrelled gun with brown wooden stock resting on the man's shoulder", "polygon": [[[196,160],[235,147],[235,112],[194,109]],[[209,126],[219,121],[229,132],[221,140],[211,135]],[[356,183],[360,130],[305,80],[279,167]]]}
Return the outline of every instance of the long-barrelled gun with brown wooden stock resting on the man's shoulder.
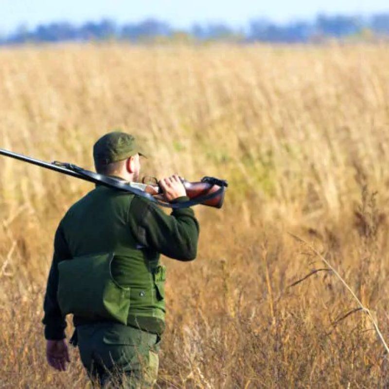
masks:
{"label": "long-barrelled gun with brown wooden stock resting on the man's shoulder", "polygon": [[28,162],[45,169],[50,169],[67,176],[80,178],[85,181],[101,184],[110,188],[116,188],[135,195],[146,197],[150,201],[157,203],[162,207],[180,209],[192,207],[197,204],[206,205],[213,208],[221,208],[224,202],[224,195],[228,183],[226,180],[215,177],[203,177],[200,181],[190,182],[183,178],[181,181],[185,187],[189,201],[179,203],[168,203],[161,201],[162,190],[158,185],[158,180],[152,177],[152,181],[147,182],[147,177],[140,182],[126,182],[119,178],[104,176],[99,173],[91,172],[68,162],[53,161],[51,163],[39,159],[26,157],[12,151],[0,149],[0,155]]}

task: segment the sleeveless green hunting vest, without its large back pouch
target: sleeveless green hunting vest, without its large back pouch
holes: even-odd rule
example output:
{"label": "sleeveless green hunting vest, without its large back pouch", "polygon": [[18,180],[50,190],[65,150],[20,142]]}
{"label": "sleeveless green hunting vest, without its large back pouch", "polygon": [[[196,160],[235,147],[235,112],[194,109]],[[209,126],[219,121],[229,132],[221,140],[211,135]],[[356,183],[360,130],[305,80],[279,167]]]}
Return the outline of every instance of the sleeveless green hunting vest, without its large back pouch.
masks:
{"label": "sleeveless green hunting vest, without its large back pouch", "polygon": [[[62,230],[72,258],[114,253],[112,277],[129,289],[127,324],[161,333],[165,322],[165,268],[159,263],[159,253],[142,247],[131,233],[133,198],[97,186],[66,213]],[[74,317],[75,325],[86,322],[90,319]]]}

